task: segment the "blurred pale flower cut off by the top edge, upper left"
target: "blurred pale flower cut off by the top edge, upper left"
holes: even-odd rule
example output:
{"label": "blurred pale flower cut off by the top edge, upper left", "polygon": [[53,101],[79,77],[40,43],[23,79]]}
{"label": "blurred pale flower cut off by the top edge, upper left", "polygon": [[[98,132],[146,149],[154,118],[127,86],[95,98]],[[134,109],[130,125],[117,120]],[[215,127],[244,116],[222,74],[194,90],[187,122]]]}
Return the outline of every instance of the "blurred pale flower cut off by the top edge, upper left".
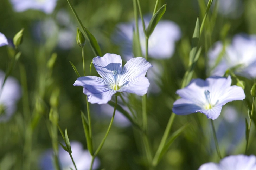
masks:
{"label": "blurred pale flower cut off by the top edge, upper left", "polygon": [[57,0],[11,0],[11,2],[17,12],[34,9],[43,11],[46,14],[51,14],[57,4]]}

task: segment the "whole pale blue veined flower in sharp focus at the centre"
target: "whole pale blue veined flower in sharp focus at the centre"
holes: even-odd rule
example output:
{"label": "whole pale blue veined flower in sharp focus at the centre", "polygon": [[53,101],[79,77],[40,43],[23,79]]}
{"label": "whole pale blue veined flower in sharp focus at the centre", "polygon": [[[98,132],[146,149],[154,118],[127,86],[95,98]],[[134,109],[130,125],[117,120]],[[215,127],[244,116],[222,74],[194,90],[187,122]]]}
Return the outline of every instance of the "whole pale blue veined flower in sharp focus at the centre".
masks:
{"label": "whole pale blue veined flower in sharp focus at the centre", "polygon": [[152,65],[145,58],[132,58],[122,68],[120,55],[107,53],[103,57],[95,57],[92,63],[102,78],[79,77],[73,84],[84,87],[83,92],[88,96],[88,102],[106,104],[117,92],[139,96],[147,93],[149,81],[145,75]]}

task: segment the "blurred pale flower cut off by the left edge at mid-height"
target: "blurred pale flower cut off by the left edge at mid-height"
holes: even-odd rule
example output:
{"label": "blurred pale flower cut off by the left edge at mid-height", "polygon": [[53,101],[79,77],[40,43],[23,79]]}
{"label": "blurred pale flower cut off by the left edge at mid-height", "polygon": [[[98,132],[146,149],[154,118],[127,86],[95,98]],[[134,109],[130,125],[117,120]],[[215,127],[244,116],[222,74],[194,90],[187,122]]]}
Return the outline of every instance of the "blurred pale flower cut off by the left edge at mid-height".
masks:
{"label": "blurred pale flower cut off by the left edge at mid-height", "polygon": [[16,110],[16,103],[21,97],[21,88],[18,81],[13,77],[8,77],[3,89],[1,89],[5,73],[0,70],[0,122],[11,118]]}

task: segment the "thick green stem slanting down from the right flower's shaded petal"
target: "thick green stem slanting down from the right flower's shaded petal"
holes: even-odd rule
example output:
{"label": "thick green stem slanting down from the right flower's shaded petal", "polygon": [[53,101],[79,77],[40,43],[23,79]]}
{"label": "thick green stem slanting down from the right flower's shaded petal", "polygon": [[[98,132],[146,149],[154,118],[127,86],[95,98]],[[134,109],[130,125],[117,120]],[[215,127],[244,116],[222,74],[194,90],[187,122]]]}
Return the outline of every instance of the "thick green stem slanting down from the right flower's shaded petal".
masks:
{"label": "thick green stem slanting down from the right flower's shaded petal", "polygon": [[158,164],[158,160],[159,160],[160,154],[161,154],[162,150],[164,149],[166,140],[167,140],[167,138],[169,136],[169,133],[171,131],[171,128],[172,128],[172,125],[173,125],[173,120],[174,120],[175,117],[176,117],[176,115],[174,113],[172,113],[172,115],[171,115],[171,117],[169,119],[169,122],[168,122],[168,124],[166,126],[164,135],[163,135],[163,137],[161,139],[161,142],[160,142],[160,144],[158,146],[158,149],[157,149],[157,151],[155,153],[155,156],[154,156],[154,159],[153,159],[153,162],[152,162],[153,166],[156,166]]}

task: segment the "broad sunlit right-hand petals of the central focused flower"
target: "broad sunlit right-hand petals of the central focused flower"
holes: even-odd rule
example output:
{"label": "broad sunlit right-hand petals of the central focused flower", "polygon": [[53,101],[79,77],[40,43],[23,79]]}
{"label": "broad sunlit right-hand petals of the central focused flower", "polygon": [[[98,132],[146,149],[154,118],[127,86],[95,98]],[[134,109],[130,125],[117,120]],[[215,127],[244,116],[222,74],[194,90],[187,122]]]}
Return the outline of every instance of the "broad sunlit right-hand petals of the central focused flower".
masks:
{"label": "broad sunlit right-hand petals of the central focused flower", "polygon": [[149,81],[145,75],[151,67],[152,65],[145,58],[135,57],[130,59],[123,67],[118,91],[135,93],[140,96],[146,94]]}

